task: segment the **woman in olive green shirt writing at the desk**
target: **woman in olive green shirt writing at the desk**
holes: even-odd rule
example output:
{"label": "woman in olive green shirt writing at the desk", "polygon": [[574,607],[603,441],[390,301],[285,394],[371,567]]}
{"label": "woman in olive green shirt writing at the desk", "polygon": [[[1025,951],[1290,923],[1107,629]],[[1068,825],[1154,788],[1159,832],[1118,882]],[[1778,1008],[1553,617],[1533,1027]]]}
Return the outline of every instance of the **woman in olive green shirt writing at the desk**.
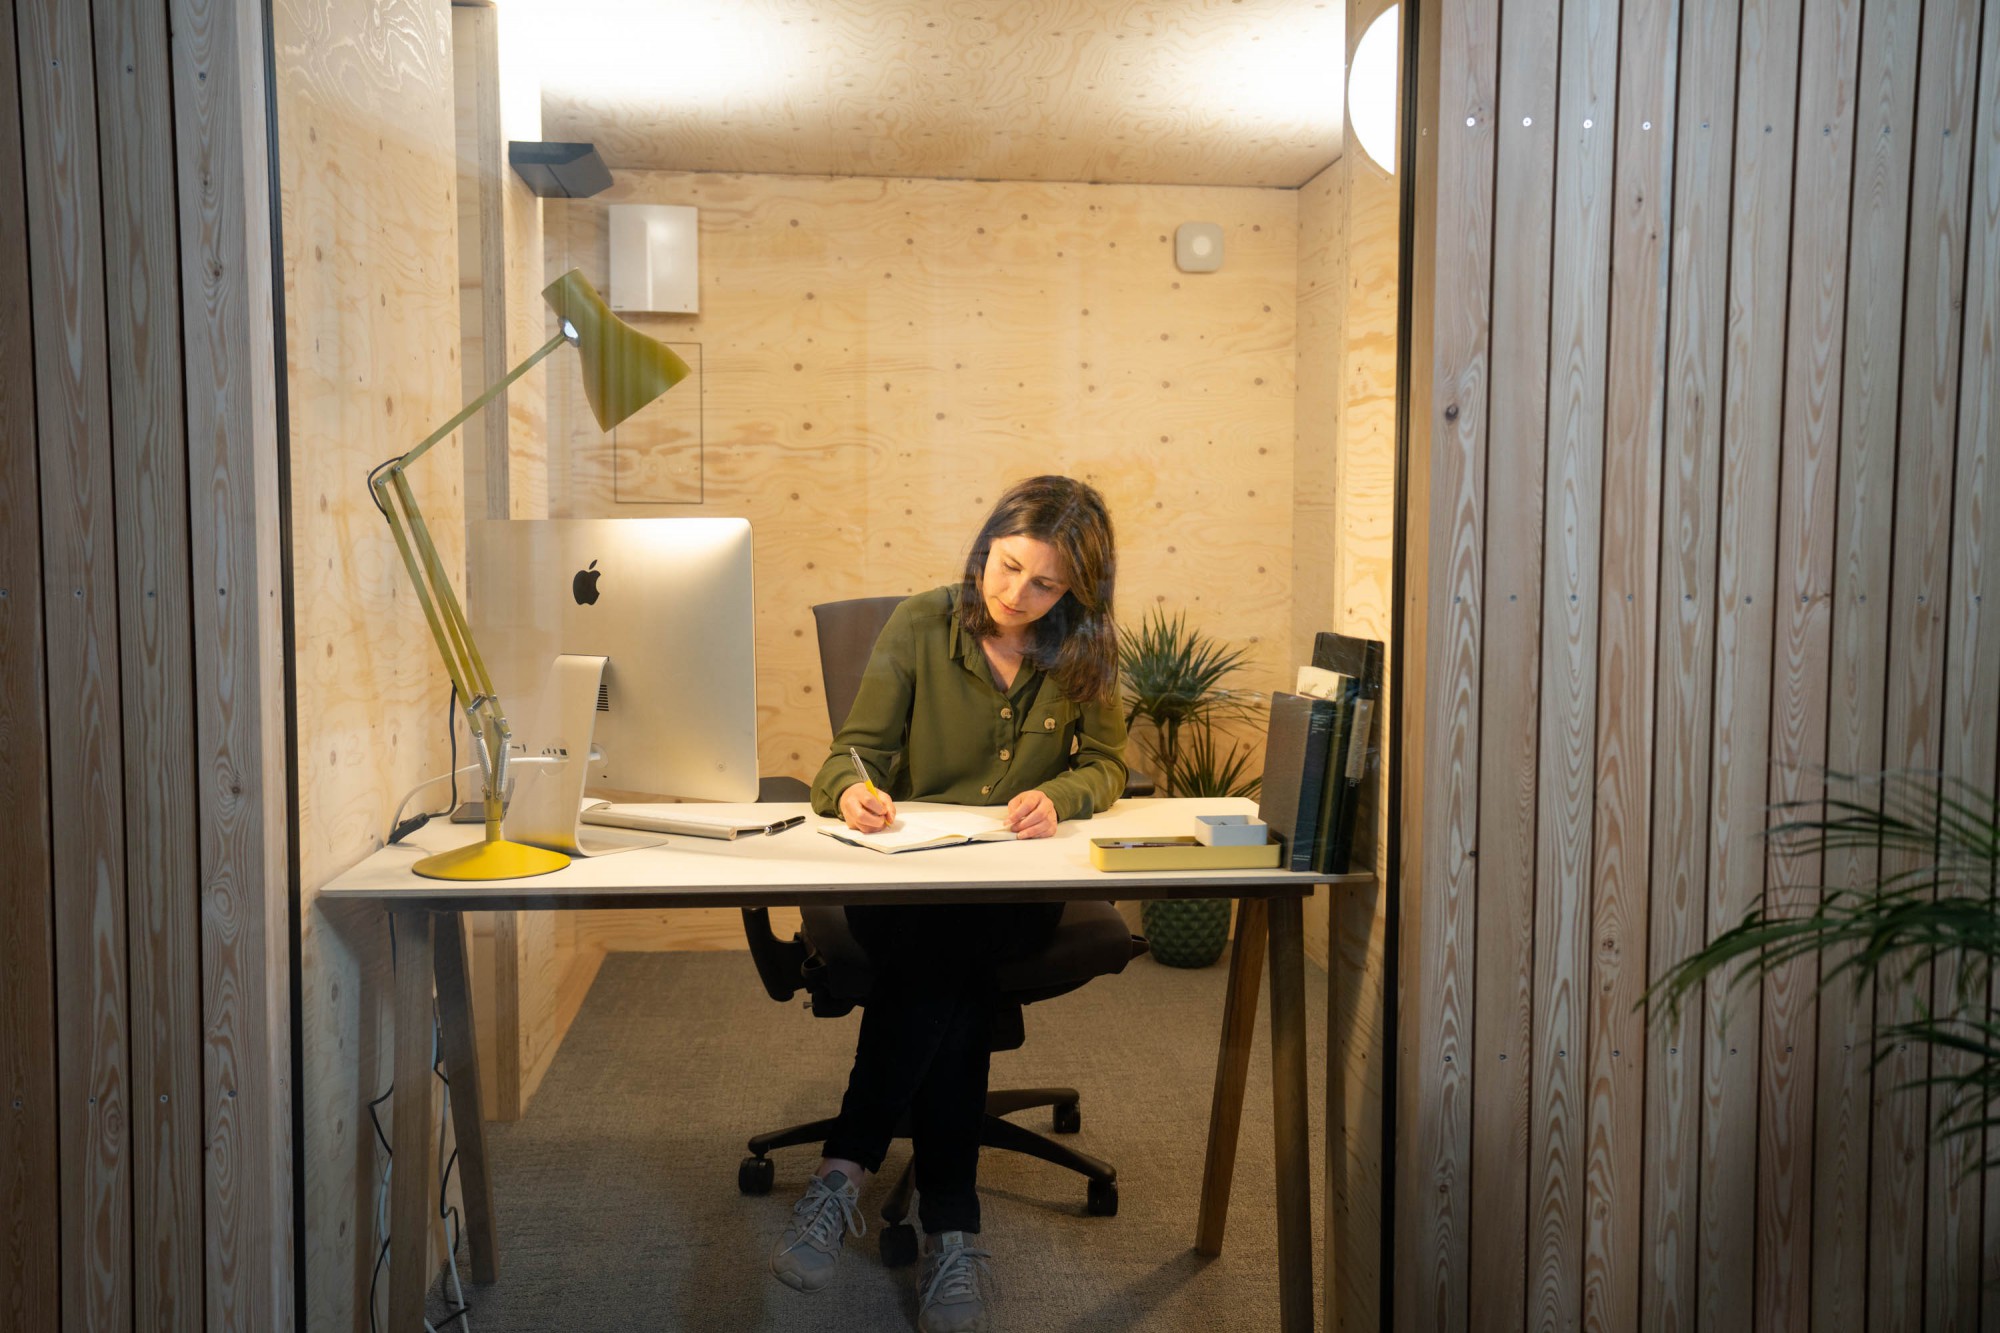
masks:
{"label": "woman in olive green shirt writing at the desk", "polygon": [[[918,592],[882,628],[812,807],[862,833],[898,801],[1006,807],[1022,839],[1090,819],[1124,791],[1116,556],[1104,498],[1068,476],[1010,488],[980,526],[956,586]],[[854,771],[850,747],[868,769]],[[876,965],[840,1119],[772,1251],[800,1291],[832,1277],[858,1197],[910,1115],[924,1263],[918,1329],[986,1329],[978,1133],[986,1111],[994,967],[1044,947],[1060,903],[850,907]]]}

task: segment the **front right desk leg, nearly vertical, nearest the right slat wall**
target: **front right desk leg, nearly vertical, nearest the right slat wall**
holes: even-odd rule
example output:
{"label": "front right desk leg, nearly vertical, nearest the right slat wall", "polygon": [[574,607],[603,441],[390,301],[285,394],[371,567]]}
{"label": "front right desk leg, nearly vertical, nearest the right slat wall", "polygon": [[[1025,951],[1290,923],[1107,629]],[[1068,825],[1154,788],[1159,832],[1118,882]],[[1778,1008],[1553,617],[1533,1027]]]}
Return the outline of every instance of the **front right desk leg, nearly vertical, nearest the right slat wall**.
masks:
{"label": "front right desk leg, nearly vertical, nearest the right slat wall", "polygon": [[1300,899],[1270,905],[1270,1101],[1278,1143],[1278,1311],[1286,1333],[1312,1333],[1304,913]]}

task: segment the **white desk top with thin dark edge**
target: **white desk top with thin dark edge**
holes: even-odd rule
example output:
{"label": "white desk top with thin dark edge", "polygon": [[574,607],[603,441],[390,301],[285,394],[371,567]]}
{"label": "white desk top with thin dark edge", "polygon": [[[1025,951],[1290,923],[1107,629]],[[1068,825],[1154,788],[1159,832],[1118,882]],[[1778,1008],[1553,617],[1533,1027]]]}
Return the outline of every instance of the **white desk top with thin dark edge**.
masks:
{"label": "white desk top with thin dark edge", "polygon": [[[1222,799],[1126,799],[1110,811],[1066,821],[1050,839],[974,843],[900,855],[848,847],[814,833],[804,805],[702,805],[702,815],[758,819],[804,815],[806,823],[770,837],[736,841],[592,829],[630,839],[634,851],[572,861],[554,875],[460,883],[420,879],[410,865],[480,837],[480,825],[432,821],[398,847],[384,847],[326,885],[324,901],[378,901],[438,909],[554,907],[776,907],[802,903],[996,903],[1050,899],[1214,899],[1304,897],[1318,883],[1370,883],[1372,875],[1294,871],[1096,871],[1090,839],[1194,833],[1194,815],[1254,815],[1256,803]],[[924,803],[900,809],[918,813]],[[984,811],[992,813],[992,811]],[[654,845],[646,845],[654,843]]]}

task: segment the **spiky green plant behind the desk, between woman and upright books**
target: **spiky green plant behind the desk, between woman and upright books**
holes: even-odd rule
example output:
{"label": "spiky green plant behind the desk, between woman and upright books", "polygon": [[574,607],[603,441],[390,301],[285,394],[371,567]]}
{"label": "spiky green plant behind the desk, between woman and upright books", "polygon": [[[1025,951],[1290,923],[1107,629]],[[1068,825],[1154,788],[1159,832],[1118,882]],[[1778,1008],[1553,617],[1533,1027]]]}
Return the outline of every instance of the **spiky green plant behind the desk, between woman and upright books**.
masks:
{"label": "spiky green plant behind the desk, between woman and upright books", "polygon": [[[1198,628],[1188,626],[1188,616],[1176,610],[1168,616],[1154,608],[1146,612],[1140,626],[1126,628],[1118,636],[1118,671],[1126,693],[1126,727],[1146,723],[1136,731],[1136,739],[1146,751],[1160,793],[1168,797],[1218,795],[1196,793],[1186,787],[1182,739],[1206,745],[1204,751],[1210,773],[1216,771],[1214,723],[1226,717],[1248,713],[1248,697],[1226,689],[1222,683],[1244,666],[1248,652],[1216,642]],[[1188,759],[1192,759],[1190,749]],[[1236,759],[1236,747],[1224,763],[1234,761],[1234,779],[1240,785],[1248,757]],[[1244,795],[1244,793],[1224,793]]]}

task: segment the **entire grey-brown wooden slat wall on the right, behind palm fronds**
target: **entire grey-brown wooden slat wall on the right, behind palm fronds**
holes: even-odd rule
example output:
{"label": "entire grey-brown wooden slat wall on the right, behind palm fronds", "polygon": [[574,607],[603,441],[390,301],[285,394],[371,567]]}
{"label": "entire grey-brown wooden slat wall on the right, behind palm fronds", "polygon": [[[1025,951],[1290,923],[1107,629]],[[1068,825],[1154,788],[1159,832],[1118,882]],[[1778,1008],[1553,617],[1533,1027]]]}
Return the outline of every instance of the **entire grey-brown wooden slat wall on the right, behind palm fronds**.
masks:
{"label": "entire grey-brown wooden slat wall on the right, behind palm fronds", "polygon": [[1878,871],[1764,853],[1828,767],[2000,783],[2000,4],[1418,40],[1396,1323],[1992,1323],[2000,1183],[1870,1067],[1948,969],[1634,1005]]}

